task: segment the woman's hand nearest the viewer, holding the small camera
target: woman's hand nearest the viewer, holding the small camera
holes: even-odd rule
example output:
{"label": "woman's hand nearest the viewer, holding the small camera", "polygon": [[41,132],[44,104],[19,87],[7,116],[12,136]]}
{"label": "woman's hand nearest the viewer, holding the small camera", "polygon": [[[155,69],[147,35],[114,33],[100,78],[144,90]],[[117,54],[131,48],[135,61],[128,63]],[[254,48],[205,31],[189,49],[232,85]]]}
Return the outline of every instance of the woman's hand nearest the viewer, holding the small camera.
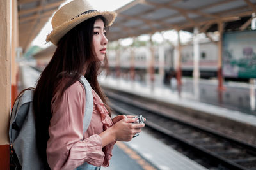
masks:
{"label": "woman's hand nearest the viewer, holding the small camera", "polygon": [[131,141],[134,134],[140,133],[141,128],[145,126],[145,124],[132,124],[136,122],[138,118],[134,118],[134,116],[131,117],[132,118],[123,118],[111,127],[117,141]]}

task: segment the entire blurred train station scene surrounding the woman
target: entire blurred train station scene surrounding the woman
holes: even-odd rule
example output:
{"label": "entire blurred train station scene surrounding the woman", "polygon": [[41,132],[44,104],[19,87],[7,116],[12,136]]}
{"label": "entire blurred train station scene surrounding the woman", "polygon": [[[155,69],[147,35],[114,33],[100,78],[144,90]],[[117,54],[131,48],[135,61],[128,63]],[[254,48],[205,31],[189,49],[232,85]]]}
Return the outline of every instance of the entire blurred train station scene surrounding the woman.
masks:
{"label": "entire blurred train station scene surrounding the woman", "polygon": [[[88,1],[118,13],[99,76],[115,115],[147,118],[102,169],[256,169],[256,0]],[[68,2],[0,3],[3,169],[10,108],[51,60],[45,38]]]}

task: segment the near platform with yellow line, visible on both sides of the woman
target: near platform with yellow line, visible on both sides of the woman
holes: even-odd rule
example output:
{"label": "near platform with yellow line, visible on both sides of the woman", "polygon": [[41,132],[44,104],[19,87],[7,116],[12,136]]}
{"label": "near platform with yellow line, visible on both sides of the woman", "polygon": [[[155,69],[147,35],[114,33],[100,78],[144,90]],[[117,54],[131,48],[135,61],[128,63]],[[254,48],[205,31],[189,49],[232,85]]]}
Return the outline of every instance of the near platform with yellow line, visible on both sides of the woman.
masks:
{"label": "near platform with yellow line, visible on both sides of the woman", "polygon": [[[20,66],[20,89],[35,87],[40,72],[22,64]],[[177,152],[161,140],[142,131],[130,142],[116,142],[109,167],[102,170],[188,170],[205,169],[194,160]]]}

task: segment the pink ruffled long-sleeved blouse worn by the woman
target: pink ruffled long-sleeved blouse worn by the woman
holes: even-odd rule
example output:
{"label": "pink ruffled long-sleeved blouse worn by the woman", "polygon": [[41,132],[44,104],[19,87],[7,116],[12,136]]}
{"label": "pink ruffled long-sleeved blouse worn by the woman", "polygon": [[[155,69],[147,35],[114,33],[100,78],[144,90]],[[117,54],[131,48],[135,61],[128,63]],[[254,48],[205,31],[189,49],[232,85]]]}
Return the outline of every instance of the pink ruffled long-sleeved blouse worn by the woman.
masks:
{"label": "pink ruffled long-sleeved blouse worn by the woman", "polygon": [[52,118],[47,142],[47,161],[51,169],[75,169],[84,162],[109,166],[114,143],[102,148],[99,134],[113,125],[108,110],[97,93],[93,93],[93,114],[83,134],[85,89],[79,81],[68,87],[60,102],[52,98]]}

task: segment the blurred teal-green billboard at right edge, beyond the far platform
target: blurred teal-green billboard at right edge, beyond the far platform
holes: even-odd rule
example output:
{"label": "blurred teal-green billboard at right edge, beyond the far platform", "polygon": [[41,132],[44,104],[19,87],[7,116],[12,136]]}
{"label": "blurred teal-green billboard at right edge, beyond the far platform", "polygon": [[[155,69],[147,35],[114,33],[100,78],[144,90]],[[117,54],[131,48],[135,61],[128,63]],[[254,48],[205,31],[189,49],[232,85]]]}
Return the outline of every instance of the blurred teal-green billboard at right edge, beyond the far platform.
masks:
{"label": "blurred teal-green billboard at right edge, beyond the far platform", "polygon": [[223,34],[223,75],[256,78],[256,31]]}

